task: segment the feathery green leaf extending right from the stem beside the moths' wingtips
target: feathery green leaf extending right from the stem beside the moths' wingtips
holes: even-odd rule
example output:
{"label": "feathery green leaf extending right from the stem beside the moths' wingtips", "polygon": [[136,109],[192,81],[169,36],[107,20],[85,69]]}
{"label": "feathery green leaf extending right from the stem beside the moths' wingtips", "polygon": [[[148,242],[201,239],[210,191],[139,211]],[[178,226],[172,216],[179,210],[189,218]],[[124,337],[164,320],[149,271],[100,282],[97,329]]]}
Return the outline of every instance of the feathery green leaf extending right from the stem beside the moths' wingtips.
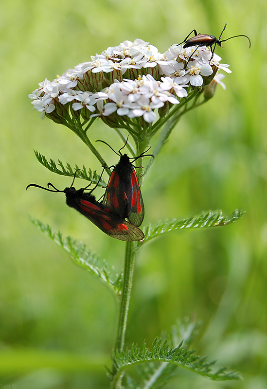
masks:
{"label": "feathery green leaf extending right from the stem beside the moths' wingtips", "polygon": [[138,242],[137,248],[141,247],[144,243],[151,239],[156,238],[159,235],[171,232],[174,230],[182,230],[187,228],[208,228],[227,226],[238,220],[245,212],[241,210],[235,210],[231,217],[223,216],[222,211],[208,212],[197,217],[190,217],[188,219],[173,219],[172,221],[166,220],[159,222],[156,227],[152,228],[151,225],[146,227],[144,232],[144,240]]}

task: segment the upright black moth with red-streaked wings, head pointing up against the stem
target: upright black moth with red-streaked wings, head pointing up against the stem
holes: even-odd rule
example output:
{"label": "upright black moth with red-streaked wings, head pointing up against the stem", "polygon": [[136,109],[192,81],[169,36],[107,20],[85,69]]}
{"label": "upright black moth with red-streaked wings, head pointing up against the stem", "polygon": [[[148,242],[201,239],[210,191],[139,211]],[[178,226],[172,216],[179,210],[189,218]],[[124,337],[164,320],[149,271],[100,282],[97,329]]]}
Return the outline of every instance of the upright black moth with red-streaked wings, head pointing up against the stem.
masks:
{"label": "upright black moth with red-streaked wings, head pointing up against the stem", "polygon": [[[128,141],[128,139],[127,139]],[[125,145],[127,144],[127,141]],[[107,144],[104,141],[101,141]],[[139,227],[144,218],[144,205],[140,186],[132,162],[144,156],[152,156],[143,152],[138,157],[130,158],[127,154],[117,153],[109,146],[114,153],[120,156],[120,160],[109,177],[107,189],[104,195],[103,204],[123,219],[128,219],[132,224]],[[132,162],[130,161],[132,159]]]}

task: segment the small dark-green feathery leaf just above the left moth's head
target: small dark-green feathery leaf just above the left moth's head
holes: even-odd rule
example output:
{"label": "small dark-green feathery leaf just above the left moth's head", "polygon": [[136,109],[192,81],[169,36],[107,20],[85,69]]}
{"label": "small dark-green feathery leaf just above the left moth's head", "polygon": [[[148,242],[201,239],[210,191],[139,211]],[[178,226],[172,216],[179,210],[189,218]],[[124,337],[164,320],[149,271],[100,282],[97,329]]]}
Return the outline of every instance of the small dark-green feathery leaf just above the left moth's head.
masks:
{"label": "small dark-green feathery leaf just above the left moth's head", "polygon": [[[99,181],[100,176],[96,173],[96,171],[91,171],[91,169],[86,170],[85,165],[83,165],[83,168],[80,169],[78,165],[75,165],[75,168],[73,169],[71,165],[67,162],[66,166],[62,163],[60,159],[58,159],[58,163],[53,159],[50,159],[49,161],[45,158],[44,155],[38,153],[38,151],[35,151],[35,156],[38,159],[38,161],[46,167],[48,170],[50,170],[53,173],[59,174],[61,176],[67,176],[67,177],[74,177],[75,172],[76,177],[86,179],[89,182],[92,182],[96,184]],[[59,166],[59,168],[57,167]],[[107,184],[103,179],[99,181],[99,186],[102,186],[103,188],[106,188]]]}

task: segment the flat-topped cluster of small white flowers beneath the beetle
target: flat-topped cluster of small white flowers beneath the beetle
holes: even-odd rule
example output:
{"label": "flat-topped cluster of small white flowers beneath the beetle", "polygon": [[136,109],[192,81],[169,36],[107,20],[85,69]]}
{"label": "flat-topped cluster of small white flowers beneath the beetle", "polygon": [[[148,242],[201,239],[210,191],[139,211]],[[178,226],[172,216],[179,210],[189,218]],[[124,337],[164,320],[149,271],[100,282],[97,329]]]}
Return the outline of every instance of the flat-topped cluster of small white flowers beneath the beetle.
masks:
{"label": "flat-topped cluster of small white flowers beneath the beetle", "polygon": [[[109,47],[91,61],[77,65],[50,82],[45,79],[29,95],[34,108],[53,120],[71,111],[80,111],[85,119],[117,113],[130,119],[142,116],[156,120],[155,109],[167,102],[178,104],[187,96],[186,88],[209,84],[218,69],[228,73],[229,65],[206,47],[183,49],[172,45],[159,53],[142,39],[124,41]],[[193,53],[193,54],[192,54]],[[59,116],[58,116],[59,115]]]}

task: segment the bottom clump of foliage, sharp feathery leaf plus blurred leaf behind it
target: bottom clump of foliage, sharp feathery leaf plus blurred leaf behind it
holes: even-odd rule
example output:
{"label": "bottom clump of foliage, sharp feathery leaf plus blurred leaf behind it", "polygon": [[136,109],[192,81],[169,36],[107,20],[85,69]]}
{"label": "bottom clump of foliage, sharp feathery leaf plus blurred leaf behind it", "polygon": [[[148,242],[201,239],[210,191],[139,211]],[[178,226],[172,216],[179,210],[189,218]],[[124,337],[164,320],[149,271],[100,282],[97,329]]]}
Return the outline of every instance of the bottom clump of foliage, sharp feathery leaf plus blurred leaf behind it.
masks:
{"label": "bottom clump of foliage, sharp feathery leaf plus blurred leaf behind it", "polygon": [[[228,371],[226,367],[212,369],[215,361],[207,362],[206,356],[199,356],[195,350],[188,348],[189,343],[196,336],[198,327],[199,321],[179,322],[173,326],[172,339],[168,342],[167,339],[156,337],[152,343],[151,351],[146,347],[145,341],[141,348],[133,344],[131,349],[126,349],[124,352],[120,353],[115,350],[112,353],[112,360],[116,367],[116,376],[120,376],[130,367],[139,367],[137,370],[138,382],[133,377],[126,377],[127,386],[125,388],[127,389],[160,389],[173,377],[178,367],[215,381],[240,379],[239,373]],[[187,334],[185,339],[181,340],[181,334]],[[177,344],[178,338],[180,339]]]}

